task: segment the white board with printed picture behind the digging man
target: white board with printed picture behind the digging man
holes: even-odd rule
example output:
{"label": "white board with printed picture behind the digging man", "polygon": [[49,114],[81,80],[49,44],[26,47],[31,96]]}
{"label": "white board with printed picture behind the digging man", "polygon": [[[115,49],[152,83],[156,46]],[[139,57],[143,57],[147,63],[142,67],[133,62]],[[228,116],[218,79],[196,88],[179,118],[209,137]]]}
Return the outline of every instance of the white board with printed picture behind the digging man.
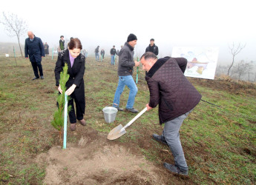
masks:
{"label": "white board with printed picture behind the digging man", "polygon": [[171,57],[183,57],[188,60],[184,75],[214,79],[218,53],[218,47],[174,47]]}

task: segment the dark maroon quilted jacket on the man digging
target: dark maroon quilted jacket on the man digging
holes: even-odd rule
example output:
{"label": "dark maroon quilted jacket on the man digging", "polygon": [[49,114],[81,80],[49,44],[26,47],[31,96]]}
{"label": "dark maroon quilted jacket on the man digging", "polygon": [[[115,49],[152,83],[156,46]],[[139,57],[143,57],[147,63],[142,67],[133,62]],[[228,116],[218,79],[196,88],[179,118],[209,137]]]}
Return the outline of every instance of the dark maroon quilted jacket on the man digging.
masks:
{"label": "dark maroon quilted jacket on the man digging", "polygon": [[149,106],[159,104],[160,124],[192,110],[202,95],[183,74],[186,58],[160,58],[145,76],[150,91]]}

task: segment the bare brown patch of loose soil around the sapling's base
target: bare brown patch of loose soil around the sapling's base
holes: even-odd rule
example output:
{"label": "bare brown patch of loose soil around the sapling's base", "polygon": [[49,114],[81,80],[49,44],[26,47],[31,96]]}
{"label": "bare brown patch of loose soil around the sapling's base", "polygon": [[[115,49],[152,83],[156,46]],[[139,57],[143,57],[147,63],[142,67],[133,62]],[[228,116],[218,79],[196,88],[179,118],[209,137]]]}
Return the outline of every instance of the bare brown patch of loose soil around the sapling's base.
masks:
{"label": "bare brown patch of loose soil around the sapling's base", "polygon": [[[47,166],[44,184],[170,183],[170,174],[146,161],[134,147],[108,141],[107,135],[91,127],[78,129],[84,133],[76,144],[68,143],[67,149],[52,147],[36,156],[36,163]],[[79,135],[77,131],[73,134]]]}

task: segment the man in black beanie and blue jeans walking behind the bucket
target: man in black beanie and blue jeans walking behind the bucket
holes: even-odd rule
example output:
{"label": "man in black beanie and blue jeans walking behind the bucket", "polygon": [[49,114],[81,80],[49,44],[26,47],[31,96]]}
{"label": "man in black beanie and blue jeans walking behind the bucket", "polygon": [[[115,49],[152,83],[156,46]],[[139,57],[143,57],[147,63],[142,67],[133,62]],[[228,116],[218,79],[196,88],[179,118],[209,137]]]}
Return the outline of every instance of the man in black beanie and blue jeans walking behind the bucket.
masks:
{"label": "man in black beanie and blue jeans walking behind the bucket", "polygon": [[132,78],[132,74],[134,72],[134,66],[138,67],[140,65],[140,61],[134,61],[134,47],[137,44],[137,36],[131,33],[127,41],[125,42],[125,46],[119,52],[119,64],[118,64],[118,76],[119,81],[116,88],[116,92],[114,95],[113,107],[116,107],[117,110],[123,111],[121,107],[119,107],[120,96],[122,95],[122,91],[125,89],[125,85],[130,89],[128,101],[125,107],[125,110],[129,112],[137,113],[138,110],[134,109],[134,101],[135,96],[137,95],[138,88],[134,82],[134,78]]}

